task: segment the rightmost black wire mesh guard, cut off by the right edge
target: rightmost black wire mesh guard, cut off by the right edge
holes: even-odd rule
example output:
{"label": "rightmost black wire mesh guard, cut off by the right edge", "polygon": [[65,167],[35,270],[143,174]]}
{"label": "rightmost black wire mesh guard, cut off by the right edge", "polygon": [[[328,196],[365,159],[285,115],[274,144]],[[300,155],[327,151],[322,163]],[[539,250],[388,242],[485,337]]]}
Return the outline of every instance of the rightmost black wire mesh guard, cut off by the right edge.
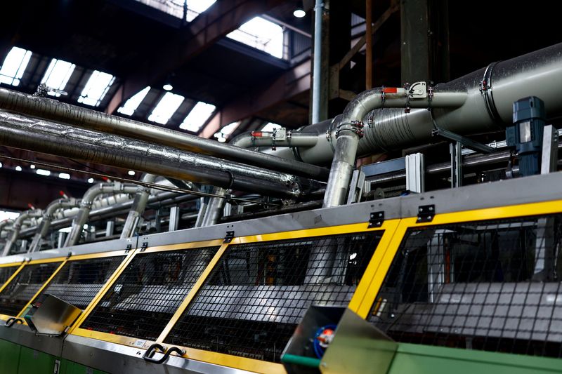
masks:
{"label": "rightmost black wire mesh guard, cut off by the right edge", "polygon": [[400,342],[561,357],[561,223],[411,228],[368,318]]}

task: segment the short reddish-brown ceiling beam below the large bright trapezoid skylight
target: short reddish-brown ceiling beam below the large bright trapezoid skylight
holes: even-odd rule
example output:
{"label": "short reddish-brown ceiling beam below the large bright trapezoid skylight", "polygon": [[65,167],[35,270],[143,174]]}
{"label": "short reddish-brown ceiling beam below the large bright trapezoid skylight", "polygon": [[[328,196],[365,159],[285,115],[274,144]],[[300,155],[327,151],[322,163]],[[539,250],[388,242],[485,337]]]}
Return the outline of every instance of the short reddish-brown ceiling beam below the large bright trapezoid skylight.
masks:
{"label": "short reddish-brown ceiling beam below the large bright trapezoid skylight", "polygon": [[310,88],[311,60],[306,60],[283,73],[275,81],[253,88],[223,106],[205,126],[200,136],[211,138],[228,123],[246,119],[280,102],[291,100]]}

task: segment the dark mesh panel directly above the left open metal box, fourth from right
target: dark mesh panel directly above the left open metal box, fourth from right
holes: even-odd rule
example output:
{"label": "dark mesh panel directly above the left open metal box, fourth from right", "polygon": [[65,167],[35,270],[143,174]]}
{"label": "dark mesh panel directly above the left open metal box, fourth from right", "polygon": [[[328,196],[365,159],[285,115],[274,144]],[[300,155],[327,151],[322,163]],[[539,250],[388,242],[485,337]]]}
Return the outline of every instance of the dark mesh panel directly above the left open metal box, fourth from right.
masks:
{"label": "dark mesh panel directly above the left open metal box, fourth from right", "polygon": [[48,293],[86,309],[125,256],[68,261],[41,295]]}

